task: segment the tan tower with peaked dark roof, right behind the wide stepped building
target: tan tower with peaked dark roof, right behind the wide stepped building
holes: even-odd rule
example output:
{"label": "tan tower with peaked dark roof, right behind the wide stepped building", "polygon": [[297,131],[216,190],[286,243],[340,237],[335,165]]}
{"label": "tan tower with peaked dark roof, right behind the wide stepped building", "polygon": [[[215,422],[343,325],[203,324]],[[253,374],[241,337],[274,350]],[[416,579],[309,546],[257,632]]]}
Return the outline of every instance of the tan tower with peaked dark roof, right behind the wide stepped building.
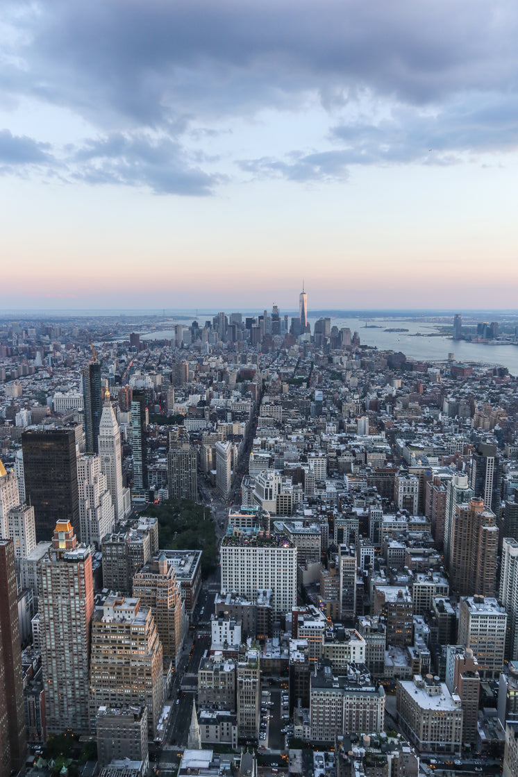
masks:
{"label": "tan tower with peaked dark roof, right behind the wide stepped building", "polygon": [[133,595],[141,607],[151,608],[162,642],[164,660],[179,664],[183,643],[182,596],[172,565],[165,553],[146,564],[133,578]]}

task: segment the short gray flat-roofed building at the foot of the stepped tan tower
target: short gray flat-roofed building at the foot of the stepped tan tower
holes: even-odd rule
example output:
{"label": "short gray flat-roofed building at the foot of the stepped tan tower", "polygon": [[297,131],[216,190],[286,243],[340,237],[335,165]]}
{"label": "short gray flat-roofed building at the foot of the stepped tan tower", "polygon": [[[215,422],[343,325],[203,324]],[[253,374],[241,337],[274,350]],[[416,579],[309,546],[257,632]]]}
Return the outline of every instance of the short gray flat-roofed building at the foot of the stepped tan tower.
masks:
{"label": "short gray flat-roofed building at the foot of the stepped tan tower", "polygon": [[99,707],[96,716],[97,758],[103,768],[110,761],[144,761],[148,772],[148,710],[144,706]]}

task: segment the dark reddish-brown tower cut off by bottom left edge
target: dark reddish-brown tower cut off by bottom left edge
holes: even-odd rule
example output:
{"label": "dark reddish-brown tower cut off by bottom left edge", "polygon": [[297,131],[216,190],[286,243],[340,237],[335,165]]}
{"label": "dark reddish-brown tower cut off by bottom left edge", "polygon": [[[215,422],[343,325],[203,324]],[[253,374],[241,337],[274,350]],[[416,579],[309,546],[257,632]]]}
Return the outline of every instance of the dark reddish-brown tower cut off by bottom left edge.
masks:
{"label": "dark reddish-brown tower cut off by bottom left edge", "polygon": [[27,741],[12,539],[0,539],[0,591],[0,777],[8,777],[25,765]]}

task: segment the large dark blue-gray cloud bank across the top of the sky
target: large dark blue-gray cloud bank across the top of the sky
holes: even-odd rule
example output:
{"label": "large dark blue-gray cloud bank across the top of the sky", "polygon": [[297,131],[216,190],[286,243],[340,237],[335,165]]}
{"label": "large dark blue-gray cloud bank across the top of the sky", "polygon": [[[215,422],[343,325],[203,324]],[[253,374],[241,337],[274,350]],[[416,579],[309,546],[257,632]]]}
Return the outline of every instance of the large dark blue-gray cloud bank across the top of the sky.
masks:
{"label": "large dark blue-gray cloud bank across the top of the sky", "polygon": [[12,24],[25,34],[11,88],[99,124],[182,126],[300,106],[308,90],[327,106],[359,89],[422,105],[518,75],[509,0],[54,0]]}

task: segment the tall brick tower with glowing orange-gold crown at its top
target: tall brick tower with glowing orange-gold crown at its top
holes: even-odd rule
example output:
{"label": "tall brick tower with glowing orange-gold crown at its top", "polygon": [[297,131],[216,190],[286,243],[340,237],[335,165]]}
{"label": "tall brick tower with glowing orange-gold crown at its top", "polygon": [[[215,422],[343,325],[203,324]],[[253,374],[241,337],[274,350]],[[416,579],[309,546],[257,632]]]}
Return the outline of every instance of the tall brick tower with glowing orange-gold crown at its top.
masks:
{"label": "tall brick tower with glowing orange-gold crown at its top", "polygon": [[57,521],[38,588],[47,733],[88,733],[92,552],[78,545],[70,521]]}

